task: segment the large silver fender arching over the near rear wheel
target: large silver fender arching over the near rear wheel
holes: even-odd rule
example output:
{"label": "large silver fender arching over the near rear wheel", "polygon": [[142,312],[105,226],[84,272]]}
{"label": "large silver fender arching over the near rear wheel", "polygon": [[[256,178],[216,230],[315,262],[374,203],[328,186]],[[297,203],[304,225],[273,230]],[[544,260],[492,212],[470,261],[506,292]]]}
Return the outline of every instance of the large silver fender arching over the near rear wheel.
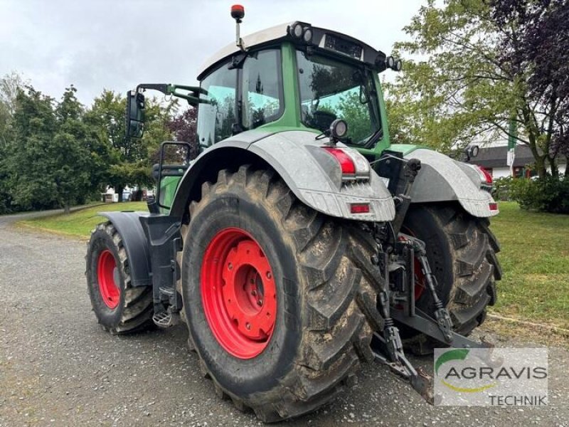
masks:
{"label": "large silver fender arching over the near rear wheel", "polygon": [[[285,181],[302,203],[329,216],[358,221],[391,221],[393,199],[381,178],[371,171],[369,181],[342,182],[336,160],[321,149],[326,140],[316,140],[313,132],[243,132],[225,139],[200,154],[182,178],[171,215],[181,216],[192,189],[201,186],[200,175],[212,174],[251,159],[262,159]],[[338,144],[345,147],[343,144]],[[195,191],[195,190],[194,190]],[[368,203],[368,214],[351,214],[353,203]]]}

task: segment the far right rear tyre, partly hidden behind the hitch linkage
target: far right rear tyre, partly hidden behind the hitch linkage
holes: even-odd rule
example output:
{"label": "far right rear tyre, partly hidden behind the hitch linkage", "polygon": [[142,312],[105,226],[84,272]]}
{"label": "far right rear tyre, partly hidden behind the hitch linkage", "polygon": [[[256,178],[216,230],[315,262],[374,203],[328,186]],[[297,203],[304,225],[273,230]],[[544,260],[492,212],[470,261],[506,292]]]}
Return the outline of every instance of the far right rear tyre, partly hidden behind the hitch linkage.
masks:
{"label": "far right rear tyre, partly hidden behind the hitch linkage", "polygon": [[[489,220],[475,218],[457,204],[417,204],[408,211],[402,231],[426,243],[437,293],[450,312],[454,331],[468,335],[482,325],[486,307],[496,302],[495,281],[501,278],[496,258],[500,247],[489,230]],[[427,290],[420,293],[416,305],[433,315]],[[407,347],[417,354],[428,354],[433,346],[440,345],[405,327],[401,329]]]}

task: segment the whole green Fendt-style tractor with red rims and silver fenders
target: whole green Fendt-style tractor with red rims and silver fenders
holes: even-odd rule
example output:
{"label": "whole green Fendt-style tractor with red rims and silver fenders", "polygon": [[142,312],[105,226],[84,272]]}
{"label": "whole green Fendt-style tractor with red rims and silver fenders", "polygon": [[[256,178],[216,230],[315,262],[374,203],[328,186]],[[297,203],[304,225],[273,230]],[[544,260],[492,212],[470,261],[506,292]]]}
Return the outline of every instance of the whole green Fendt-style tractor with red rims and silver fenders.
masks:
{"label": "whole green Fendt-style tractor with red rims and silver fenders", "polygon": [[390,144],[378,74],[400,60],[305,22],[208,59],[199,87],[144,91],[198,107],[201,149],[164,142],[148,212],[92,232],[87,285],[112,334],[184,322],[219,396],[262,421],[314,411],[383,362],[432,401],[405,352],[467,338],[496,300],[491,181],[427,147]]}

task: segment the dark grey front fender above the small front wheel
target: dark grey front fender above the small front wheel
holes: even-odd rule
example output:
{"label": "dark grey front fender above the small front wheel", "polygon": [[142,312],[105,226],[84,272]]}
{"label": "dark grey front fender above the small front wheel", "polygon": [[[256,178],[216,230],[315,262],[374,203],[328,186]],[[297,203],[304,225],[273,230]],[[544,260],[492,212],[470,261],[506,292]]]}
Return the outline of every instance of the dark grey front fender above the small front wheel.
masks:
{"label": "dark grey front fender above the small front wheel", "polygon": [[150,251],[147,237],[140,223],[148,212],[100,212],[115,227],[122,238],[129,260],[129,274],[132,286],[151,286]]}

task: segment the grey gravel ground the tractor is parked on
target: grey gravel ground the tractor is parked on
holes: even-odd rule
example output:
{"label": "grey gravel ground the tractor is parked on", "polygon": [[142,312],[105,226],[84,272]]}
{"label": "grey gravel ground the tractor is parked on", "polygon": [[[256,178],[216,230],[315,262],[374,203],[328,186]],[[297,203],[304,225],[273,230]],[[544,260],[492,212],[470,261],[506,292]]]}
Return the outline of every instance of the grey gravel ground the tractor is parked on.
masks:
{"label": "grey gravel ground the tractor is parked on", "polygon": [[[97,326],[85,242],[11,221],[0,217],[0,426],[262,425],[216,397],[186,350],[184,325],[130,337]],[[430,358],[415,362],[432,371]],[[568,362],[569,352],[550,350],[550,405],[541,408],[430,406],[371,364],[349,394],[281,425],[568,427]]]}

